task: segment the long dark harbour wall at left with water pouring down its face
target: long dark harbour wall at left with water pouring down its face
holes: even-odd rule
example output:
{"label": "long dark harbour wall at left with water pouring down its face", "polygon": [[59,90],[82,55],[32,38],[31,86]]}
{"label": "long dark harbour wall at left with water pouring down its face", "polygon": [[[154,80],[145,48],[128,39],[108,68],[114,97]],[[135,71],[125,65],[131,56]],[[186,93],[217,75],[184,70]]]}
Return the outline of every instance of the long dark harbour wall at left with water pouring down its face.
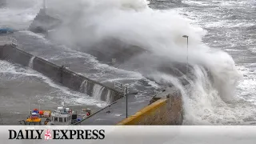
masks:
{"label": "long dark harbour wall at left with water pouring down its face", "polygon": [[58,66],[42,58],[35,57],[32,54],[18,49],[16,46],[0,46],[0,59],[18,63],[22,66],[30,65],[31,69],[44,74],[54,82],[58,82],[62,86],[70,88],[70,90],[76,90],[98,98],[98,100],[111,103],[123,96],[118,90],[114,90],[109,86],[104,86],[100,82],[95,82],[94,80],[86,78],[81,74],[74,73],[71,70],[67,70],[64,66]]}

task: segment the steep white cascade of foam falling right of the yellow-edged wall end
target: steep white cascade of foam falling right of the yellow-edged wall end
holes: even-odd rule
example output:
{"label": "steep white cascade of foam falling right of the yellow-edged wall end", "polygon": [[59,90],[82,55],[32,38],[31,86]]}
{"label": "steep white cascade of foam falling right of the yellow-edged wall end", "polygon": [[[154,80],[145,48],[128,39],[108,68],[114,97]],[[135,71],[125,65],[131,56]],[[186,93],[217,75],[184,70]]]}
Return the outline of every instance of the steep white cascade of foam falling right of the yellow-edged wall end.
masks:
{"label": "steep white cascade of foam falling right of the yellow-edged wall end", "polygon": [[232,108],[223,101],[223,97],[220,97],[219,90],[214,86],[206,70],[194,66],[194,75],[196,78],[190,81],[189,95],[183,97],[186,109],[184,124],[210,125],[233,122],[234,116],[229,116]]}

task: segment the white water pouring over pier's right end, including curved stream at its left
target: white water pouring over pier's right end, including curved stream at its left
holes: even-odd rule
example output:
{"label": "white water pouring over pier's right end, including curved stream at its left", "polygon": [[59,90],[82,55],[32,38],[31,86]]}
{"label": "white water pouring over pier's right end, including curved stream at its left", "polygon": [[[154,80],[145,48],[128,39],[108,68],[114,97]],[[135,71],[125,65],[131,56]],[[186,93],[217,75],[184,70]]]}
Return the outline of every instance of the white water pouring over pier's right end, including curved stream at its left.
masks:
{"label": "white water pouring over pier's right end, including curved stream at its left", "polygon": [[[213,80],[208,71],[202,66],[193,66],[193,80],[189,86],[183,86],[178,78],[170,74],[156,73],[151,75],[156,82],[172,83],[182,94],[182,106],[184,110],[183,125],[210,125],[234,122],[233,110],[219,96]],[[234,112],[235,113],[235,112]],[[225,115],[219,117],[219,114]],[[239,118],[238,118],[239,119]],[[240,121],[240,120],[238,120]]]}

